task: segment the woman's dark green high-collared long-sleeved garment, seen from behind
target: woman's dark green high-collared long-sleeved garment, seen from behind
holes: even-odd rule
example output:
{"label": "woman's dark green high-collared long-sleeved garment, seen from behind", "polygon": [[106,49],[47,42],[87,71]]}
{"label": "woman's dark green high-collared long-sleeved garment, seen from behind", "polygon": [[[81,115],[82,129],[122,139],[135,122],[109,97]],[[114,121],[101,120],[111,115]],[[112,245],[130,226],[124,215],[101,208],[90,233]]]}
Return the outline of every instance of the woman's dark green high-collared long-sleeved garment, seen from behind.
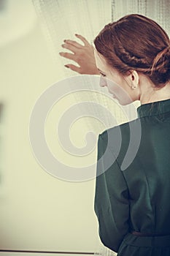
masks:
{"label": "woman's dark green high-collared long-sleeved garment, seen from behind", "polygon": [[[98,135],[94,210],[102,243],[118,255],[170,255],[170,99]],[[162,236],[139,237],[131,231]]]}

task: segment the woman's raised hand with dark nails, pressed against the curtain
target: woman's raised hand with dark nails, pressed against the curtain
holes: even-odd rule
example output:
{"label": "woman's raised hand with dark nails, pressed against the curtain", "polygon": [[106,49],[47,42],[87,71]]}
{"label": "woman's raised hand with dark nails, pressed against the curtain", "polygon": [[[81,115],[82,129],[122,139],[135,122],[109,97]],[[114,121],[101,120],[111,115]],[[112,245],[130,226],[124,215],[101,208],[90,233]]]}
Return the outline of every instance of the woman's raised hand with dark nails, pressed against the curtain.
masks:
{"label": "woman's raised hand with dark nails, pressed against the curtain", "polygon": [[68,67],[80,74],[98,75],[99,72],[96,67],[93,46],[90,45],[87,39],[82,37],[80,34],[75,34],[75,36],[81,39],[84,45],[73,40],[64,40],[64,44],[61,46],[65,49],[71,50],[72,53],[61,52],[59,54],[66,59],[75,61],[80,67],[77,67],[74,64],[66,64],[65,67]]}

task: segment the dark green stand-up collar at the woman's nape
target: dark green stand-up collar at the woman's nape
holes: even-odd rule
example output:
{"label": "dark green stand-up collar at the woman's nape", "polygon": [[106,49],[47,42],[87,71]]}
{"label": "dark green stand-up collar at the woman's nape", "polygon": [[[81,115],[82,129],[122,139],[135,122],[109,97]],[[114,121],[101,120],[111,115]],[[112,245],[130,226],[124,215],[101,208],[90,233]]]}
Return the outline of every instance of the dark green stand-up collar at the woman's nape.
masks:
{"label": "dark green stand-up collar at the woman's nape", "polygon": [[139,118],[144,116],[155,116],[166,112],[170,112],[170,99],[142,104],[137,108]]}

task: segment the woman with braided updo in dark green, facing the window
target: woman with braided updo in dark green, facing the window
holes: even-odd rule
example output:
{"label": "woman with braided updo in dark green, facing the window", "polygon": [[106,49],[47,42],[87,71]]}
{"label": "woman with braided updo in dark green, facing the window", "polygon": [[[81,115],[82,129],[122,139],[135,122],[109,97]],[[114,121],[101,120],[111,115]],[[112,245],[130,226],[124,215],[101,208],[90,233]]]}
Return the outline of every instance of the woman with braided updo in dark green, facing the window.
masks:
{"label": "woman with braided updo in dark green, facing the window", "polygon": [[[70,43],[74,45],[75,42],[70,41],[66,48]],[[106,80],[104,86],[108,86],[109,92],[122,105],[136,100],[141,102],[136,120],[107,129],[98,136],[94,207],[99,236],[102,243],[118,256],[168,256],[169,37],[155,21],[142,15],[126,15],[105,26],[94,45],[96,66]],[[74,50],[71,49],[74,53],[75,48],[74,45]],[[119,89],[115,90],[115,83],[109,83],[107,78],[115,81]],[[139,148],[134,160],[122,168],[131,140],[130,123],[135,127],[137,122],[142,129]],[[122,144],[116,154],[117,143],[112,141],[118,131],[122,135]],[[137,128],[134,132],[137,140]],[[112,159],[110,166],[109,159]]]}

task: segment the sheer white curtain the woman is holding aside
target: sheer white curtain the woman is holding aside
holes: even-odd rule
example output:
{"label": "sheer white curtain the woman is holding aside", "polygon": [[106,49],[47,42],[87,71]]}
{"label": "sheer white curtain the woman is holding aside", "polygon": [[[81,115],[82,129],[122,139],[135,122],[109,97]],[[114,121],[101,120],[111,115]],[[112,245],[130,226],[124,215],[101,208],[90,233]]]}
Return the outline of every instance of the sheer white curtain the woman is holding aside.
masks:
{"label": "sheer white curtain the woman is holding aside", "polygon": [[[62,74],[63,79],[79,75],[63,67],[64,64],[68,63],[68,60],[58,55],[62,50],[63,39],[77,40],[74,37],[75,33],[82,34],[89,42],[93,42],[105,24],[117,20],[123,15],[139,13],[157,21],[170,34],[169,0],[33,0],[33,3],[47,39],[47,45],[56,63],[56,69]],[[74,62],[69,61],[69,63]],[[87,121],[87,125],[94,132],[101,132],[102,129],[114,125],[112,118],[109,118],[110,112],[119,124],[127,121],[127,116],[123,110],[129,113],[128,121],[135,117],[134,105],[137,107],[139,102],[120,108],[114,100],[111,101],[106,89],[93,83],[86,84],[88,84],[89,90],[84,93],[80,91],[75,95],[75,98],[81,102],[89,102],[89,108],[95,108],[96,117],[98,117],[98,105],[90,105],[90,102],[96,101],[105,108],[103,112],[100,109],[100,115],[106,116],[107,120],[104,126],[100,123],[94,123],[92,119]],[[104,246],[96,254],[114,255]]]}

